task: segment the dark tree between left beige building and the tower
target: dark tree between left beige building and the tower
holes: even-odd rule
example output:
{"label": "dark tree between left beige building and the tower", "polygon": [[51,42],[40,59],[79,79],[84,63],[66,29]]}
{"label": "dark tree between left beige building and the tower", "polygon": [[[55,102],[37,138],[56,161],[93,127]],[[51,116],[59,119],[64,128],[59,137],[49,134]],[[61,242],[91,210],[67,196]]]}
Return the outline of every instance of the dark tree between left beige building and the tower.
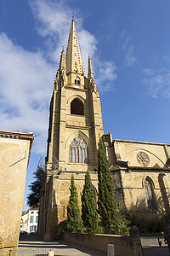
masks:
{"label": "dark tree between left beige building and the tower", "polygon": [[27,195],[27,204],[29,207],[37,206],[40,199],[40,192],[42,189],[42,184],[45,178],[44,166],[40,160],[37,166],[37,171],[34,172],[35,181],[29,185],[31,190],[30,194]]}

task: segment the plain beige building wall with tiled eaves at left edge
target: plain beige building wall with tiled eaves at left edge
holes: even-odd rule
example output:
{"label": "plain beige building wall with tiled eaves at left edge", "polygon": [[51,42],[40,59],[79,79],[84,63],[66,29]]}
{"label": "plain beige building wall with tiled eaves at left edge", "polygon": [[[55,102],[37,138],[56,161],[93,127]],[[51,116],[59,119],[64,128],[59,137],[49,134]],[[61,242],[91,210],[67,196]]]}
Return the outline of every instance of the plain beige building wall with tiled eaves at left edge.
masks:
{"label": "plain beige building wall with tiled eaves at left edge", "polygon": [[33,133],[0,131],[1,247],[17,247]]}

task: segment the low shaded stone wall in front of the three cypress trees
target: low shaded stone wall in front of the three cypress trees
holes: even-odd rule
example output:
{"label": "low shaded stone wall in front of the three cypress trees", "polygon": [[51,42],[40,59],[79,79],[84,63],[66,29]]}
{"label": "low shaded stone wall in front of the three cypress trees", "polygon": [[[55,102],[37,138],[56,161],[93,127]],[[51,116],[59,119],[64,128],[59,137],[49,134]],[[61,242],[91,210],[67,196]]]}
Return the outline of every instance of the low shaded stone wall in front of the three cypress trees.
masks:
{"label": "low shaded stone wall in front of the three cypress trees", "polygon": [[111,243],[115,247],[116,256],[143,255],[139,238],[139,230],[135,226],[130,230],[130,236],[65,232],[64,240],[93,247],[105,252],[107,252],[108,244]]}

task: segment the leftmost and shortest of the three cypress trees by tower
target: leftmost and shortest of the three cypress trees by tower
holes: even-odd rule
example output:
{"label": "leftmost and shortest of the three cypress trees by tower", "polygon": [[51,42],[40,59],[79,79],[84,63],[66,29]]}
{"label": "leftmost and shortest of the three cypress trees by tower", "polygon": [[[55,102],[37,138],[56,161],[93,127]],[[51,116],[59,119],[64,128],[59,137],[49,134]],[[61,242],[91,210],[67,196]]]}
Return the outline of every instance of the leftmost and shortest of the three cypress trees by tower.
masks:
{"label": "leftmost and shortest of the three cypress trees by tower", "polygon": [[69,203],[67,206],[67,216],[68,216],[67,230],[80,232],[83,230],[83,224],[82,224],[82,218],[80,216],[80,210],[78,207],[77,187],[75,186],[73,175],[71,175],[70,190],[71,190],[71,195],[70,195]]}

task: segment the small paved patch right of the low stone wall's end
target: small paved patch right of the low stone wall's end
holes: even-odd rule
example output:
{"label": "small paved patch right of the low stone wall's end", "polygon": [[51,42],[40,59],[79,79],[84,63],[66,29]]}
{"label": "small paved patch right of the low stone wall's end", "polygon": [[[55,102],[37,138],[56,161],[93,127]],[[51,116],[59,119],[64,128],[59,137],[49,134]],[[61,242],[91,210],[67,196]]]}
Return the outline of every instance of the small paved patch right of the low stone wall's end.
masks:
{"label": "small paved patch right of the low stone wall's end", "polygon": [[[158,245],[158,238],[161,246]],[[162,236],[141,237],[141,243],[144,250],[144,256],[170,256],[167,244],[165,244]]]}

